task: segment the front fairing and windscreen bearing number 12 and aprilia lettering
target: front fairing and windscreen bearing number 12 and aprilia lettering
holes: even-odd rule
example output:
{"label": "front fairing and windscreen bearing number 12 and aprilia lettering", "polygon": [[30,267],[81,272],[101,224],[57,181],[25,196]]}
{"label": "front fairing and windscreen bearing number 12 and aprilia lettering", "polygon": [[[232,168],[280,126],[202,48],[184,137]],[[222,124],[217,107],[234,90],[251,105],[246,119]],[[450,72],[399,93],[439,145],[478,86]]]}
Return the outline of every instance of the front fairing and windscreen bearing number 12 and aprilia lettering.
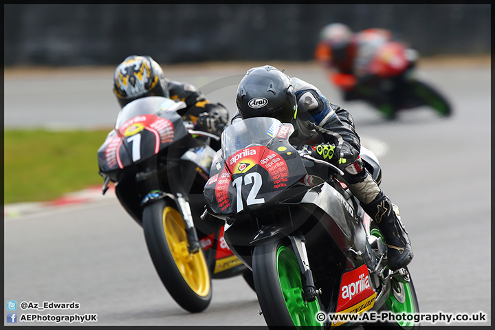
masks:
{"label": "front fairing and windscreen bearing number 12 and aprilia lettering", "polygon": [[289,144],[291,124],[273,118],[236,122],[222,134],[222,149],[212,162],[206,202],[216,214],[256,210],[307,174]]}

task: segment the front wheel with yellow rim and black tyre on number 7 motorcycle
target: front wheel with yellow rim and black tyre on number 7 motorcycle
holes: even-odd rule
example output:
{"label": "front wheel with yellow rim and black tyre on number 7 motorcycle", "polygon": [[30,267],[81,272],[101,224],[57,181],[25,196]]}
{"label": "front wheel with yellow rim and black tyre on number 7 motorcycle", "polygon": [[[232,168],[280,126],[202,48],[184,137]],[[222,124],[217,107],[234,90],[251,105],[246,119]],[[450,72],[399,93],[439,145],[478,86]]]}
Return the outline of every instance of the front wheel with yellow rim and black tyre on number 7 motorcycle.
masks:
{"label": "front wheel with yellow rim and black tyre on number 7 motorcycle", "polygon": [[191,313],[206,309],[212,298],[210,272],[203,250],[188,251],[180,212],[160,199],[144,208],[142,219],[148,252],[170,296]]}

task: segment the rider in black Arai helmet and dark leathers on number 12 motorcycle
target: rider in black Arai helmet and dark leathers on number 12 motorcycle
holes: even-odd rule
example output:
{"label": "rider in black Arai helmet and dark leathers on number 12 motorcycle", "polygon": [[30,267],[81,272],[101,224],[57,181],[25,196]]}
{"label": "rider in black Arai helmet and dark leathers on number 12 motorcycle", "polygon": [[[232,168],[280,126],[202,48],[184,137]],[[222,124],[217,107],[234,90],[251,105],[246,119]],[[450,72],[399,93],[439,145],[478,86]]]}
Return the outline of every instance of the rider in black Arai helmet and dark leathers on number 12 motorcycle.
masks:
{"label": "rider in black Arai helmet and dark leathers on number 12 motorcycle", "polygon": [[[253,105],[255,98],[265,104]],[[271,117],[291,122],[294,146],[311,145],[311,156],[338,166],[341,181],[358,197],[364,211],[377,223],[388,246],[388,267],[398,270],[413,257],[408,233],[399,209],[384,194],[360,158],[360,137],[347,110],[330,103],[314,85],[289,78],[270,65],[249,69],[237,89],[238,112],[232,122],[252,117]]]}

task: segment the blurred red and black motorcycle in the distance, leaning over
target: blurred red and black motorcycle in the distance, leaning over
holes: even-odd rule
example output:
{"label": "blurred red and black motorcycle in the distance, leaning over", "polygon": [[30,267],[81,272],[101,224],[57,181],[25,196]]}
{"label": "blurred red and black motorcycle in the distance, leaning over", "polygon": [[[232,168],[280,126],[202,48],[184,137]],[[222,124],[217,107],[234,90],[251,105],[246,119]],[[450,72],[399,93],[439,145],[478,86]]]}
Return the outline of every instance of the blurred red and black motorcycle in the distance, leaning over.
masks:
{"label": "blurred red and black motorcycle in the distance, leaning over", "polygon": [[[366,76],[331,73],[331,81],[344,91],[344,100],[362,100],[378,109],[387,119],[397,111],[430,107],[441,116],[452,114],[450,102],[432,85],[416,75],[417,52],[391,41],[366,59]],[[355,86],[355,87],[354,87]]]}

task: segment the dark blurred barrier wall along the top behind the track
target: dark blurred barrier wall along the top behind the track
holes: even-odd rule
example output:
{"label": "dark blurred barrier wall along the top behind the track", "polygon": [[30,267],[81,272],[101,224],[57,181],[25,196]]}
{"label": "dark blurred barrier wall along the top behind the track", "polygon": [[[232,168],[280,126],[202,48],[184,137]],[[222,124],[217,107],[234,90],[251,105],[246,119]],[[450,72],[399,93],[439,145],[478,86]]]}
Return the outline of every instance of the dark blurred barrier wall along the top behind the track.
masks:
{"label": "dark blurred barrier wall along the top behind the track", "polygon": [[[422,56],[488,54],[490,5],[5,5],[11,65],[116,65],[125,54],[158,63],[311,61],[320,29],[386,28]],[[270,47],[268,47],[270,45]]]}

